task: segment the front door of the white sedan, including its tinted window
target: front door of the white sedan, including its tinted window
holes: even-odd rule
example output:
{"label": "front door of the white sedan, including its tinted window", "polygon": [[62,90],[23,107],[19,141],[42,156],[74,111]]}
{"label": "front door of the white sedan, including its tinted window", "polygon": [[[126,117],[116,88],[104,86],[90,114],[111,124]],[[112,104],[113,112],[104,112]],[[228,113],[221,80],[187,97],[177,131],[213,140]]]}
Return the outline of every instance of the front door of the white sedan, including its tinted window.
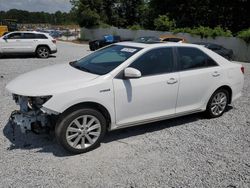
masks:
{"label": "front door of the white sedan, including its tinted window", "polygon": [[153,49],[129,67],[137,79],[114,78],[116,124],[126,126],[175,114],[179,74],[174,73],[172,48]]}

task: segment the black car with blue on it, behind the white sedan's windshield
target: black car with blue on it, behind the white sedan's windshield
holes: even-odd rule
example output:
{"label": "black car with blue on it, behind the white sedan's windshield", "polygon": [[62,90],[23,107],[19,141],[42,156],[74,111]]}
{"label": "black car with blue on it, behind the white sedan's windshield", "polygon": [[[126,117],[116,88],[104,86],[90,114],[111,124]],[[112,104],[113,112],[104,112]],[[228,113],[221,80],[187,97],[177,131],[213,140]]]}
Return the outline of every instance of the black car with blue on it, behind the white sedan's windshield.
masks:
{"label": "black car with blue on it, behind the white sedan's windshield", "polygon": [[94,40],[94,41],[90,41],[89,42],[89,49],[91,51],[95,51],[99,48],[102,48],[104,46],[113,44],[113,43],[117,43],[121,41],[121,37],[120,36],[116,36],[116,35],[105,35],[103,36],[102,39],[98,39],[98,40]]}

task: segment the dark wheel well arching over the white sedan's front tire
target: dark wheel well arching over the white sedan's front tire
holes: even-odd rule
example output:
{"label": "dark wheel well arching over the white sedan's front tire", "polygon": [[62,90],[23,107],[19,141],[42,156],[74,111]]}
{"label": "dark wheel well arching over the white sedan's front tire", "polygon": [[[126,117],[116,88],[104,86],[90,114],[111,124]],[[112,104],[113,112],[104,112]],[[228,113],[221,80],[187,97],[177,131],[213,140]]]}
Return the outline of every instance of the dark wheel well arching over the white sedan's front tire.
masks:
{"label": "dark wheel well arching over the white sedan's front tire", "polygon": [[64,113],[69,113],[69,112],[75,111],[76,109],[81,109],[81,108],[93,108],[95,110],[98,110],[105,117],[105,119],[107,121],[107,128],[109,128],[110,123],[111,123],[110,113],[108,112],[108,110],[103,105],[101,105],[99,103],[95,103],[95,102],[78,103],[78,104],[75,104],[75,105],[69,107],[68,109],[66,109],[63,112],[63,114]]}

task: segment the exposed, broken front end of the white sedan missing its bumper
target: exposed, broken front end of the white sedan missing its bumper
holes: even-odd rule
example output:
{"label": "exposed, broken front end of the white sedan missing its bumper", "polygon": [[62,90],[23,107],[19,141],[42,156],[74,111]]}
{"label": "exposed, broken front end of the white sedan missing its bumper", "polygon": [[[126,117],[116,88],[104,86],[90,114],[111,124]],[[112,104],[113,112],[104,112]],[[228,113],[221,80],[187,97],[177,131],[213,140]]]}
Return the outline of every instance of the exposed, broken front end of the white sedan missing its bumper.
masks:
{"label": "exposed, broken front end of the white sedan missing its bumper", "polygon": [[27,97],[14,94],[13,99],[20,106],[20,110],[12,112],[11,123],[19,126],[22,133],[28,131],[39,133],[49,129],[53,115],[42,110],[42,105],[50,98],[51,96]]}

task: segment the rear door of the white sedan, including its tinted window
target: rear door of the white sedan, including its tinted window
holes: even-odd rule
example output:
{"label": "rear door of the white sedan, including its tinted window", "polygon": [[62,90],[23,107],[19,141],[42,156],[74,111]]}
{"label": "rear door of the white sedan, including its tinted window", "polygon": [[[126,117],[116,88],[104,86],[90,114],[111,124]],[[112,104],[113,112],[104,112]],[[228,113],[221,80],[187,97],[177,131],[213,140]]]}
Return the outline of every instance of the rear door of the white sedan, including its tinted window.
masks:
{"label": "rear door of the white sedan, including its tinted window", "polygon": [[217,87],[223,72],[207,54],[195,47],[178,47],[180,76],[176,113],[199,110]]}

